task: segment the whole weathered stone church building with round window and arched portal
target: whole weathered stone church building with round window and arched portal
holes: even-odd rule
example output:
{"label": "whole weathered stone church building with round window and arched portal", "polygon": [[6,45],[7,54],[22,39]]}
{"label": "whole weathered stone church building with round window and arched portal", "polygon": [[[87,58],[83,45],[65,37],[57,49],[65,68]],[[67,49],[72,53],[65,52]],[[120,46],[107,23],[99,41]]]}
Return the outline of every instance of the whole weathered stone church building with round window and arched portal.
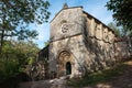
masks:
{"label": "whole weathered stone church building with round window and arched portal", "polygon": [[114,31],[82,7],[65,6],[51,21],[48,73],[74,77],[114,65],[116,37]]}

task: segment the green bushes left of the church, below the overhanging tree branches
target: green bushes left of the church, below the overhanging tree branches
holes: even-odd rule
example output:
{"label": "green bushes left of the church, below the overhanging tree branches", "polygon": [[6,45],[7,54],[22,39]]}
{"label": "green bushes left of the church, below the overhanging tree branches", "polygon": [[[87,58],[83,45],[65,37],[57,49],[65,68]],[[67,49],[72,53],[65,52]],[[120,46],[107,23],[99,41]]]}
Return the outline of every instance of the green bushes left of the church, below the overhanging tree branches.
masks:
{"label": "green bushes left of the church, below the overhanging tree branches", "polygon": [[0,54],[0,80],[3,81],[23,72],[37,58],[40,48],[33,42],[7,41]]}

